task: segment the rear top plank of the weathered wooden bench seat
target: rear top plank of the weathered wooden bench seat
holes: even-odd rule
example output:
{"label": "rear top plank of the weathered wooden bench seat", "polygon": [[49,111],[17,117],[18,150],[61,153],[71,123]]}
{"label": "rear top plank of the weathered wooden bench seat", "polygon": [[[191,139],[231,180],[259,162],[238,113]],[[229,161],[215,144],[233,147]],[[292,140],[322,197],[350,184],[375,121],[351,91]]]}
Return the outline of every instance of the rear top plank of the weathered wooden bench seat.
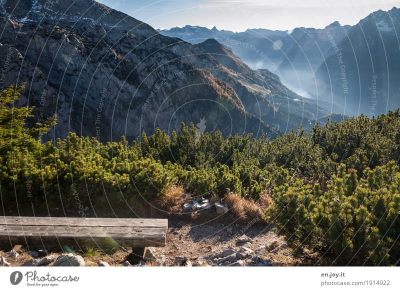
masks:
{"label": "rear top plank of the weathered wooden bench seat", "polygon": [[54,225],[54,226],[118,226],[160,227],[167,226],[167,219],[141,218],[84,218],[84,217],[17,217],[0,216],[1,224]]}

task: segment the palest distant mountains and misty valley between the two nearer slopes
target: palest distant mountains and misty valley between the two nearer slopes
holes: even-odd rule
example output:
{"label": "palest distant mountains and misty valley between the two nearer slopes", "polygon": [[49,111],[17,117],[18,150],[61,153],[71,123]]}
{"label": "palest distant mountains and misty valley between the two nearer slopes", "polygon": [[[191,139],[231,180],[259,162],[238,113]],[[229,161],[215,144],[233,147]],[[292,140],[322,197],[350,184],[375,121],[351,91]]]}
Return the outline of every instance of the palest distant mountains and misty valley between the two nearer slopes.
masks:
{"label": "palest distant mountains and misty valley between the two nearer slopes", "polygon": [[[257,28],[232,32],[215,27],[208,29],[186,25],[160,30],[160,33],[191,43],[212,37],[230,47],[250,67],[270,70],[285,85],[307,96],[310,79],[323,62],[325,52],[331,47],[327,31],[339,42],[349,28],[349,25],[341,26],[336,21],[322,29],[298,27],[280,31]],[[327,107],[330,108],[330,105]]]}

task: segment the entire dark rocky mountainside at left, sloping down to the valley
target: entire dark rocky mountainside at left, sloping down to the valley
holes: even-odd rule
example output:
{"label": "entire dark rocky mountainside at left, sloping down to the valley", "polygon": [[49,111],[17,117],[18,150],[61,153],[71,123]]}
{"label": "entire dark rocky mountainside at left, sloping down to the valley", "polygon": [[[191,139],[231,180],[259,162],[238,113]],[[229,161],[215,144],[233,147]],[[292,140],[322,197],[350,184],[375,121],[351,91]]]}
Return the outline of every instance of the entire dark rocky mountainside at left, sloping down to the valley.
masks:
{"label": "entire dark rocky mountainside at left, sloping down to the valley", "polygon": [[0,27],[0,89],[26,83],[16,105],[35,106],[32,122],[57,113],[47,138],[132,139],[182,121],[272,136],[327,114],[214,39],[164,36],[94,0],[2,0]]}

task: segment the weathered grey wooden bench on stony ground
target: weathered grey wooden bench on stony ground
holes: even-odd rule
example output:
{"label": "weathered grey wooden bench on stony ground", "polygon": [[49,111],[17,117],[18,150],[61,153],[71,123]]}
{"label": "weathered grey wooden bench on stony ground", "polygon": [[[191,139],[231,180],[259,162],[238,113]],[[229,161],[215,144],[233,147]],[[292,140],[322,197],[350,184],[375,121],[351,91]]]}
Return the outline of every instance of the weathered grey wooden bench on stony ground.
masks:
{"label": "weathered grey wooden bench on stony ground", "polygon": [[132,246],[141,255],[147,246],[165,246],[167,219],[0,216],[0,245]]}

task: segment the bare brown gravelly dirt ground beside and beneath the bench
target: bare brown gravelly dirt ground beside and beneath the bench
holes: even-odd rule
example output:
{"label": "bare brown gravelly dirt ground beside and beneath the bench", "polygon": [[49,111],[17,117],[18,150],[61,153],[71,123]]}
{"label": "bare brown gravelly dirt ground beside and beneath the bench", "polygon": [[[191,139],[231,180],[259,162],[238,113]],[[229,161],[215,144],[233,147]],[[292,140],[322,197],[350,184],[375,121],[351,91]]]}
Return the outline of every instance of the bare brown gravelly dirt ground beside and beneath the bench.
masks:
{"label": "bare brown gravelly dirt ground beside and beneath the bench", "polygon": [[[164,265],[167,266],[173,264],[175,256],[186,256],[195,263],[197,258],[203,255],[214,254],[229,247],[238,248],[236,239],[242,234],[253,239],[252,245],[248,245],[248,247],[253,251],[257,250],[257,253],[264,259],[268,259],[272,265],[296,265],[299,263],[292,257],[291,250],[286,246],[284,240],[275,234],[273,227],[255,219],[247,224],[169,219],[166,245],[165,247],[156,247],[155,251],[157,255],[165,255]],[[18,251],[19,255],[14,259],[8,257],[6,251],[6,249],[0,250],[0,256],[4,256],[12,266],[22,265],[32,258],[23,248]],[[122,265],[129,249],[121,248],[113,253],[102,253],[96,249],[91,251],[75,249],[74,252],[81,255],[86,265],[89,266],[96,266],[99,261],[106,261],[111,266],[118,266]],[[48,254],[57,257],[61,253],[61,250],[53,250]]]}

